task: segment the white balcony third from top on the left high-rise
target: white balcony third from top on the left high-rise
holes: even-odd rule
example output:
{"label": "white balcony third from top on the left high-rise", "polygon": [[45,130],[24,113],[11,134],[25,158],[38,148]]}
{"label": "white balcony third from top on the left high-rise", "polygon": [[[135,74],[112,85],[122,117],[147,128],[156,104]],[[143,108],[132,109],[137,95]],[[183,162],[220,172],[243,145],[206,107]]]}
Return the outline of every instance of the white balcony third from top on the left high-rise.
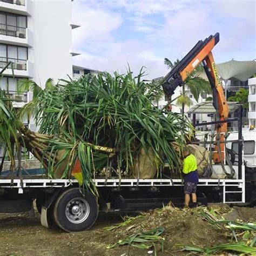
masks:
{"label": "white balcony third from top on the left high-rise", "polygon": [[17,77],[33,77],[33,63],[26,59],[14,59],[0,57],[0,69],[11,62],[8,69],[4,71],[4,75],[17,76]]}

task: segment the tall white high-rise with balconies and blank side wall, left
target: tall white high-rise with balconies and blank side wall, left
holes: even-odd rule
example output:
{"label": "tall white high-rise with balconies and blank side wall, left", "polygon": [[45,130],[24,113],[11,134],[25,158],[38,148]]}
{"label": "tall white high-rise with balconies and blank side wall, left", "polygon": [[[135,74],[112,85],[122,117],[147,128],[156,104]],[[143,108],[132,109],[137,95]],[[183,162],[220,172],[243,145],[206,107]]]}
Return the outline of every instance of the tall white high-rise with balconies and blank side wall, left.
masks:
{"label": "tall white high-rise with balconies and blank side wall, left", "polygon": [[0,0],[0,70],[12,63],[0,86],[19,105],[31,97],[17,95],[19,79],[44,87],[48,78],[72,77],[72,56],[79,53],[72,51],[71,33],[79,25],[72,23],[71,14],[71,0]]}

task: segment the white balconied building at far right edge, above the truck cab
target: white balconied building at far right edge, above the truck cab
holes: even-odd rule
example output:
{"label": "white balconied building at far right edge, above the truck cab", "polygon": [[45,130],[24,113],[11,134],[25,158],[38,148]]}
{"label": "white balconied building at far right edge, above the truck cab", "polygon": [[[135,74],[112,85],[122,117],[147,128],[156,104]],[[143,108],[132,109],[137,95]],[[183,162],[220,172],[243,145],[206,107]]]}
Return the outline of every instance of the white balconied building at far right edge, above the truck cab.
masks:
{"label": "white balconied building at far right edge, above the truck cab", "polygon": [[249,111],[248,111],[248,120],[249,127],[253,125],[256,126],[256,77],[248,79],[249,86]]}

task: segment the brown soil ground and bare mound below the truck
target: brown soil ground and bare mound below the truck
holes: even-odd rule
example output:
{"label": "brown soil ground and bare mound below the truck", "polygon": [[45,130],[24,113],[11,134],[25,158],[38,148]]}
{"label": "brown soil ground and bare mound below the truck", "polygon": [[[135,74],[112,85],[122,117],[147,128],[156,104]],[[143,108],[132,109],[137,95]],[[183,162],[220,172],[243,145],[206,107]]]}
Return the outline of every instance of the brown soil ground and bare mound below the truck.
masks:
{"label": "brown soil ground and bare mound below the truck", "polygon": [[[225,217],[234,216],[244,221],[256,221],[256,208],[230,208],[227,205],[210,205]],[[103,227],[122,222],[119,215],[99,214],[96,224],[89,231],[66,233],[57,227],[47,229],[40,224],[40,216],[29,217],[28,213],[0,214],[0,255],[150,255],[149,250],[133,246],[106,246],[138,231],[164,227],[164,253],[157,246],[158,255],[187,255],[177,251],[174,244],[211,246],[228,242],[223,232],[216,230],[203,218],[190,210],[166,206],[163,210],[152,210],[145,217],[130,224],[106,231]],[[153,251],[153,250],[152,250]],[[153,254],[152,254],[153,255]]]}

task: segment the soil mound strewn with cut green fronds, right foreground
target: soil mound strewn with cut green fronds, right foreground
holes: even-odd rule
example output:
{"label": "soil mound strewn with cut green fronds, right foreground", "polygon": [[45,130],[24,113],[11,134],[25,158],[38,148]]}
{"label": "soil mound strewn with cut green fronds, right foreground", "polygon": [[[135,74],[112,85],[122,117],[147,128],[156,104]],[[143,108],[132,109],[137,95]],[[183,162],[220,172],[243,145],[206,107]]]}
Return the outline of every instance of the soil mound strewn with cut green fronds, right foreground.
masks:
{"label": "soil mound strewn with cut green fronds, right foreground", "polygon": [[[223,208],[192,209],[179,209],[167,205],[138,215],[139,217],[126,218],[123,223],[106,227],[105,230],[110,232],[110,236],[113,234],[113,240],[119,240],[119,242],[113,241],[112,246],[108,248],[117,247],[119,244],[129,246],[131,245],[129,241],[134,235],[161,226],[165,228],[161,237],[164,238],[166,253],[175,255],[179,247],[181,248],[179,251],[186,250],[199,255],[225,252],[253,254],[256,250],[254,222],[256,210],[253,211],[251,208],[244,210],[248,210],[246,219],[243,215],[239,215],[239,220],[228,221],[224,219],[225,214],[236,210],[227,205]],[[156,251],[159,251],[159,247],[154,249],[154,252]]]}

